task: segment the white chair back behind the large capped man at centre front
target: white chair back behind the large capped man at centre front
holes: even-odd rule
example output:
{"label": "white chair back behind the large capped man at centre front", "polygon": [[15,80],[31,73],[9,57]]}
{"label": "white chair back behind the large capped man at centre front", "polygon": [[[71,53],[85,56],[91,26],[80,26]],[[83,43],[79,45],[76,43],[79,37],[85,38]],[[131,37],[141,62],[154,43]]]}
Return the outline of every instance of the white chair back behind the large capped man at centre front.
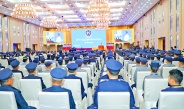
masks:
{"label": "white chair back behind the large capped man at centre front", "polygon": [[98,109],[130,109],[130,93],[98,92]]}

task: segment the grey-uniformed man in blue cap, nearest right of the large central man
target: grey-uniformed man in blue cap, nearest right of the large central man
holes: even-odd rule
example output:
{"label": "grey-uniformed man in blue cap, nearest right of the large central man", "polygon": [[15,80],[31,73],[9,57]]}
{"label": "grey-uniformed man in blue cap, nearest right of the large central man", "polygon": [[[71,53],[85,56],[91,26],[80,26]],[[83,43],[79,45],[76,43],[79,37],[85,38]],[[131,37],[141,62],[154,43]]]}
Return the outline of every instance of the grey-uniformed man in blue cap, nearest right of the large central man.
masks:
{"label": "grey-uniformed man in blue cap, nearest right of the large central man", "polygon": [[136,87],[136,81],[137,81],[137,72],[138,71],[150,71],[149,67],[147,66],[147,59],[146,58],[140,58],[140,67],[137,67],[134,73],[134,82],[135,84],[133,84],[131,87]]}

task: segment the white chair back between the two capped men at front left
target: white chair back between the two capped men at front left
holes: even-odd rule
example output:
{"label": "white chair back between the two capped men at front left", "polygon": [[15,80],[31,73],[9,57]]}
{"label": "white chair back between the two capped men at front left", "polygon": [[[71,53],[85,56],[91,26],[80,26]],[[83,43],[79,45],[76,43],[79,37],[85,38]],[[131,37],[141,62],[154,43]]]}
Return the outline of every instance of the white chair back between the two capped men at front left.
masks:
{"label": "white chair back between the two capped men at front left", "polygon": [[38,100],[38,93],[42,91],[40,79],[21,79],[20,86],[25,100]]}

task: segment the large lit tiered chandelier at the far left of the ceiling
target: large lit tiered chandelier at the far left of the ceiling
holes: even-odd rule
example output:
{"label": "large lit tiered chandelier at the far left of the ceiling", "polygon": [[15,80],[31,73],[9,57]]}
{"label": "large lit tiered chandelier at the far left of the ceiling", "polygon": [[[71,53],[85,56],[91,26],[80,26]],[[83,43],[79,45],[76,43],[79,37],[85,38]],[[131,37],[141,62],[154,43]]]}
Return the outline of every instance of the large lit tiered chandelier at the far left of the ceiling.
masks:
{"label": "large lit tiered chandelier at the far left of the ceiling", "polygon": [[11,16],[19,19],[26,19],[26,20],[38,19],[38,15],[33,5],[28,3],[16,4],[15,8],[13,9],[13,12],[11,13]]}

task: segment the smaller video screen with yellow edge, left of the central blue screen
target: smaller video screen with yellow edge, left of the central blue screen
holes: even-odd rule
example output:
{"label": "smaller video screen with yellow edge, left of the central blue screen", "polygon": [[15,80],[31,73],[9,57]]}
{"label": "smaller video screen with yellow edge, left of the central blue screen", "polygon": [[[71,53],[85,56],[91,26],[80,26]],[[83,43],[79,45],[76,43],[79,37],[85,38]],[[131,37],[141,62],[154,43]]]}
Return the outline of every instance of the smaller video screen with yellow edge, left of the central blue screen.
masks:
{"label": "smaller video screen with yellow edge, left of the central blue screen", "polygon": [[44,31],[43,32],[43,42],[44,44],[48,43],[64,43],[64,34],[63,32],[52,32]]}

